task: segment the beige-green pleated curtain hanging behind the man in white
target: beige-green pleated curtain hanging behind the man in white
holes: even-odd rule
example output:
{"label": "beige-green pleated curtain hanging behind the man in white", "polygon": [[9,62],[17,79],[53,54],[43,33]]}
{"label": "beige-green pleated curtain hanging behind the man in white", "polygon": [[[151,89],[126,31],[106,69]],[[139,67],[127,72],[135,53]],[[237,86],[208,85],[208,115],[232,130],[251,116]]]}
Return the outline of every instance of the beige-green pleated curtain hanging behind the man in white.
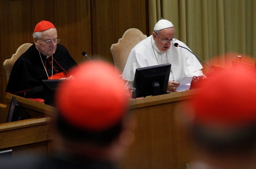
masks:
{"label": "beige-green pleated curtain hanging behind the man in white", "polygon": [[[170,20],[175,36],[212,64],[231,64],[227,53],[256,58],[255,0],[148,0],[149,26]],[[217,57],[219,56],[219,57]],[[217,59],[216,59],[217,58]],[[203,65],[208,72],[207,66]]]}

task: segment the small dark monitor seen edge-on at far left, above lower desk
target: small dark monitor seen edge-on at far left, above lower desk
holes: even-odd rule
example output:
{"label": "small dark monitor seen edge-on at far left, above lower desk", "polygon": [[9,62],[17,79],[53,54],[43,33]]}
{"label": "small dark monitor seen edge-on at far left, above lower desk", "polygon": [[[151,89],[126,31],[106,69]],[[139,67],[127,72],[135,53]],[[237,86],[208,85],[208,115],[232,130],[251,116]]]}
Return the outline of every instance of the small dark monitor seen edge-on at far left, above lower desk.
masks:
{"label": "small dark monitor seen edge-on at far left, above lower desk", "polygon": [[19,104],[16,98],[12,97],[6,122],[15,122],[15,121],[19,121],[20,119],[21,118],[20,118],[20,112],[19,112]]}

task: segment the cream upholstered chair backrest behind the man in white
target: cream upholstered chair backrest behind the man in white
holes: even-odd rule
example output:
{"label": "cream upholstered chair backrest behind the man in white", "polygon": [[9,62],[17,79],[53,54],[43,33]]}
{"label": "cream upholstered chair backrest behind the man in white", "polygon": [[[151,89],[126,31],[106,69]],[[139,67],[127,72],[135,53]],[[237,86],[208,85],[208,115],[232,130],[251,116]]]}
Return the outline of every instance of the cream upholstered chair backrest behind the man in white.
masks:
{"label": "cream upholstered chair backrest behind the man in white", "polygon": [[123,72],[131,49],[145,38],[147,38],[147,35],[143,34],[139,29],[130,28],[126,30],[123,37],[110,47],[115,67]]}

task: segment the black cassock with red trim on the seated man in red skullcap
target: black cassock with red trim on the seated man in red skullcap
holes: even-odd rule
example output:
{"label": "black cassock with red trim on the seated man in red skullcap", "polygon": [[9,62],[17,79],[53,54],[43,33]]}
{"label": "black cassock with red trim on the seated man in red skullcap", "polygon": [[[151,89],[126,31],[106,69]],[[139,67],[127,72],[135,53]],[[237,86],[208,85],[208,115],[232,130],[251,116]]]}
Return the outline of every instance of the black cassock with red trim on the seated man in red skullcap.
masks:
{"label": "black cassock with red trim on the seated man in red skullcap", "polygon": [[[23,53],[13,65],[10,78],[6,87],[6,93],[12,93],[26,98],[43,98],[42,80],[48,76],[63,72],[68,77],[67,71],[77,63],[68,53],[66,47],[57,44],[55,53],[46,57],[33,44]],[[45,71],[45,68],[47,73]]]}

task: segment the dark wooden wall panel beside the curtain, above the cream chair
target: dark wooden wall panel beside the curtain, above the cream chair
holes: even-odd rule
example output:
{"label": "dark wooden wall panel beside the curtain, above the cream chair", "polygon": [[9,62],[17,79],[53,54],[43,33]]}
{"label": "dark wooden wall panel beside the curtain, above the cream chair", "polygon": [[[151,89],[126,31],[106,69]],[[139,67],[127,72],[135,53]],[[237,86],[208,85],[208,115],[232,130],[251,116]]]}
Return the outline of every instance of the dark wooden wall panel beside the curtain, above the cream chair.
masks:
{"label": "dark wooden wall panel beside the curtain, above the cream chair", "polygon": [[93,0],[92,51],[93,58],[113,61],[110,47],[129,28],[148,34],[148,4],[146,0]]}

